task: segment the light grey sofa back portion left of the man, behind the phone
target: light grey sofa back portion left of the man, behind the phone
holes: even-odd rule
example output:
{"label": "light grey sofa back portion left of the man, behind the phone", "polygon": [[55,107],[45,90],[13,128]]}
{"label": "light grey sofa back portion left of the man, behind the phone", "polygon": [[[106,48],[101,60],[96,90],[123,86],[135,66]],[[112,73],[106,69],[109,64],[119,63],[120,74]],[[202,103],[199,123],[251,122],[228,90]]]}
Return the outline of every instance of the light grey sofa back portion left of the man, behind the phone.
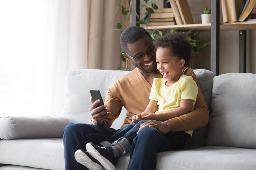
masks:
{"label": "light grey sofa back portion left of the man, behind the phone", "polygon": [[[65,81],[65,100],[62,115],[72,122],[88,123],[92,118],[89,111],[91,107],[89,90],[100,90],[105,101],[105,95],[111,83],[129,72],[98,69],[69,71]],[[125,116],[126,109],[123,108],[112,127],[120,128]]]}

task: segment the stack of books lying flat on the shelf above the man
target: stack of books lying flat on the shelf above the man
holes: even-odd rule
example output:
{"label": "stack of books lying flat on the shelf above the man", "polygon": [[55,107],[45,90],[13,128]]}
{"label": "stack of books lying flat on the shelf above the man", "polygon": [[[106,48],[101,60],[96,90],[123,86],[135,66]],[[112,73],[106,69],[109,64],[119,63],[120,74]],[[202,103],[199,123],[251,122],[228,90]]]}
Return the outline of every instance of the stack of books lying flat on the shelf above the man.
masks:
{"label": "stack of books lying flat on the shelf above the man", "polygon": [[154,9],[147,26],[175,25],[175,18],[172,8]]}

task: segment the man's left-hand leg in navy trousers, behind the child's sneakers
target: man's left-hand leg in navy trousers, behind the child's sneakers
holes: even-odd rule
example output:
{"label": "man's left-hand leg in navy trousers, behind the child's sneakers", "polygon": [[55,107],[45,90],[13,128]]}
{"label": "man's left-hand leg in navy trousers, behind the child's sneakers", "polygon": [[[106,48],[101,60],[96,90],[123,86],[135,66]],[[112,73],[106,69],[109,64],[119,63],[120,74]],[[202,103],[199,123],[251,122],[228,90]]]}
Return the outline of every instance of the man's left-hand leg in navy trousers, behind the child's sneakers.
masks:
{"label": "man's left-hand leg in navy trousers, behind the child's sneakers", "polygon": [[63,130],[64,158],[66,170],[87,169],[76,162],[74,154],[78,149],[85,149],[86,143],[98,144],[106,140],[118,130],[92,124],[71,123]]}

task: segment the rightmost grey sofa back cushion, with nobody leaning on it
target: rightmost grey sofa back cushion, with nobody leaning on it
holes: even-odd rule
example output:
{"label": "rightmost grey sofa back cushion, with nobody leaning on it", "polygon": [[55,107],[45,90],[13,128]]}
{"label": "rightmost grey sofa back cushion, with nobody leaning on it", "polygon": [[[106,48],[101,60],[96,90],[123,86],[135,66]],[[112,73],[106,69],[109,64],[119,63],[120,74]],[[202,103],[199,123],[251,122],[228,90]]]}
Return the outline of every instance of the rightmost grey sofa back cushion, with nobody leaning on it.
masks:
{"label": "rightmost grey sofa back cushion, with nobody leaning on it", "polygon": [[256,74],[214,77],[206,144],[256,149]]}

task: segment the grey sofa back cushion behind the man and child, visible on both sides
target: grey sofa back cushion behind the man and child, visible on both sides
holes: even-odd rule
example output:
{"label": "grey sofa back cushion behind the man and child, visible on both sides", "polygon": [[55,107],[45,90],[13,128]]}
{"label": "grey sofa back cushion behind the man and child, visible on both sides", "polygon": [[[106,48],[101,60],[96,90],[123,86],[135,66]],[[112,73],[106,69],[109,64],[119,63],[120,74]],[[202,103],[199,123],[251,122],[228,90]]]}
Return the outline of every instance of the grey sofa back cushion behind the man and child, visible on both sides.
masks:
{"label": "grey sofa back cushion behind the man and child, visible on both sides", "polygon": [[[208,108],[211,105],[211,88],[215,74],[204,69],[194,70]],[[65,82],[65,101],[63,116],[72,122],[88,123],[91,120],[89,108],[91,107],[89,90],[100,90],[103,100],[107,89],[117,78],[129,73],[129,71],[81,69],[69,71]],[[112,128],[120,128],[126,117],[126,109],[123,108],[120,116],[112,124]],[[206,127],[194,131],[190,145],[204,145]]]}

